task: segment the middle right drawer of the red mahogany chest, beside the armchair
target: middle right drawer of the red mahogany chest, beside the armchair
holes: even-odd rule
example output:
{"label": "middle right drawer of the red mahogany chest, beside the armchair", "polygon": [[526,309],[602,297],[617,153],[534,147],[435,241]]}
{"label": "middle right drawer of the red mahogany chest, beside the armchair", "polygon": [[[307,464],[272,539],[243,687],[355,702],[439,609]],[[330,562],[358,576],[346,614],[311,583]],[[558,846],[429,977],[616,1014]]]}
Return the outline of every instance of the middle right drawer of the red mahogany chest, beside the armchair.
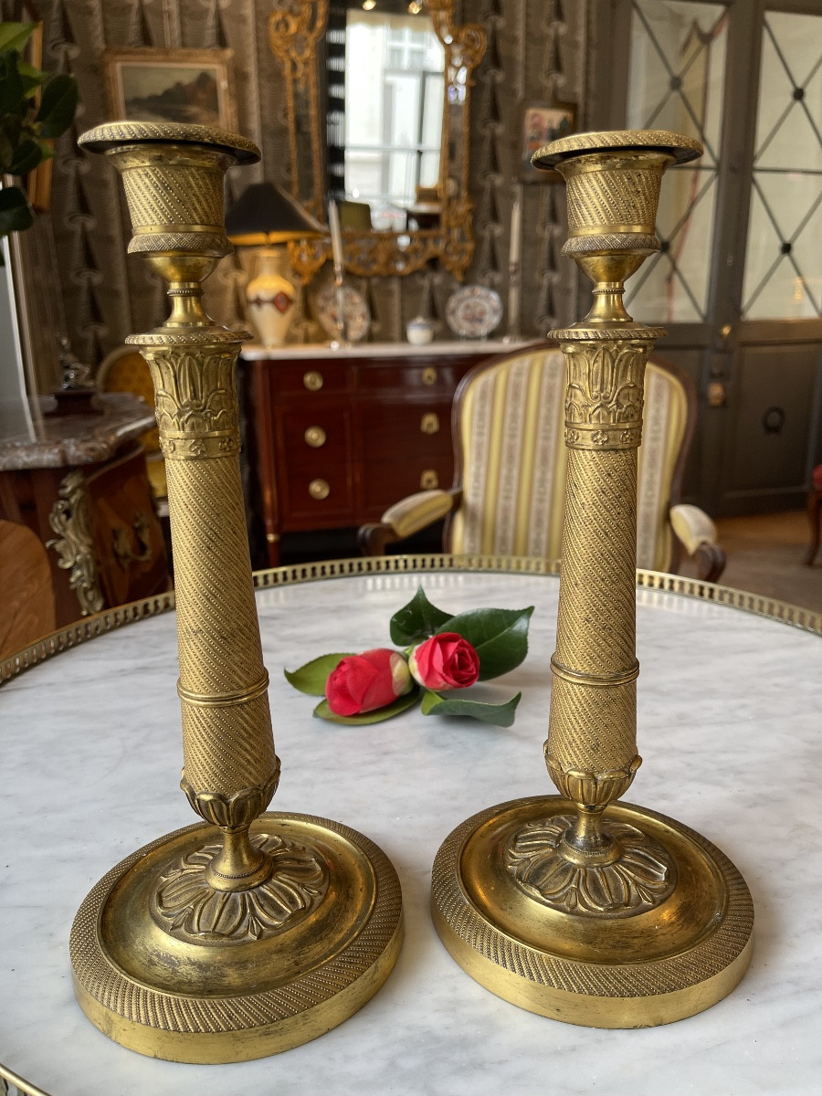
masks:
{"label": "middle right drawer of the red mahogany chest, beside the armchair", "polygon": [[449,457],[450,399],[363,403],[357,409],[366,463]]}

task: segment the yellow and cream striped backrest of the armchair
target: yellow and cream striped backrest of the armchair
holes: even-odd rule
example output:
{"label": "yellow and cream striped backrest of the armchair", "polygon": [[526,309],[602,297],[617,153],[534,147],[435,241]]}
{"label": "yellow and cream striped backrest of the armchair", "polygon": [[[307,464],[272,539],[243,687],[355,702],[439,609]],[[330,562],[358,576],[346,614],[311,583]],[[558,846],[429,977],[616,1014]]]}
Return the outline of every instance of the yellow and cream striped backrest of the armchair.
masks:
{"label": "yellow and cream striped backrest of the armchair", "polygon": [[[566,480],[566,365],[536,349],[479,368],[461,391],[457,444],[463,504],[450,525],[453,552],[558,559]],[[649,363],[639,450],[637,566],[672,562],[669,495],[687,423],[687,393]]]}

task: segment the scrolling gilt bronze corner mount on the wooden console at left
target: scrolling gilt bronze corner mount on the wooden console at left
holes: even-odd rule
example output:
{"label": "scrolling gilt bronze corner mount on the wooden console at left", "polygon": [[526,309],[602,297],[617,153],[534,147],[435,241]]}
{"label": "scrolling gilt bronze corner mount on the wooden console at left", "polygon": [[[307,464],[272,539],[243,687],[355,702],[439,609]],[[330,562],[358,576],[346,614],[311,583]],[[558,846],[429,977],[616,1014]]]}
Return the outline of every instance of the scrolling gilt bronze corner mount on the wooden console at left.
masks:
{"label": "scrolling gilt bronze corner mount on the wooden console at left", "polygon": [[83,473],[69,472],[61,481],[58,494],[48,515],[48,524],[57,538],[47,540],[46,548],[54,548],[60,557],[57,566],[70,572],[69,586],[77,594],[80,612],[89,616],[102,609],[105,598],[91,537],[89,496]]}

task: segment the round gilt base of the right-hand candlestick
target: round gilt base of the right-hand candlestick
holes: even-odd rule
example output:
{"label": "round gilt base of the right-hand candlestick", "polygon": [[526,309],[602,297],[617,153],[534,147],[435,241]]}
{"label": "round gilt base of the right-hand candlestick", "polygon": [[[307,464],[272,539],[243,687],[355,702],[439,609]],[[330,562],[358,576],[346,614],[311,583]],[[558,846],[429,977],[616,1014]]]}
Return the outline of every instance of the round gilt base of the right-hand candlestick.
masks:
{"label": "round gilt base of the right-hand candlestick", "polygon": [[585,868],[582,879],[583,869],[557,863],[557,836],[574,814],[557,796],[516,799],[446,837],[433,913],[452,957],[498,996],[586,1027],[671,1024],[721,1001],[751,958],[753,903],[733,864],[682,823],[617,803],[604,813],[617,840],[629,846],[640,831],[626,872],[633,883],[612,875],[603,888],[602,871]]}

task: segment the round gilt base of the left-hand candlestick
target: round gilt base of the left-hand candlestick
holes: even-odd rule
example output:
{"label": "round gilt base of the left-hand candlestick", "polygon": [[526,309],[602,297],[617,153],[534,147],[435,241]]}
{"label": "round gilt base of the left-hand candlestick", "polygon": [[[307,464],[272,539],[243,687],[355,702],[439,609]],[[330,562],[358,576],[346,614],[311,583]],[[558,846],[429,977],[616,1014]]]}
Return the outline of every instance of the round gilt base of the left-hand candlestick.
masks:
{"label": "round gilt base of the left-hand candlestick", "polygon": [[204,883],[220,846],[199,823],[113,868],[71,929],[75,993],[115,1042],[175,1062],[243,1062],[316,1039],[361,1008],[402,943],[388,857],[307,814],[251,826],[272,861],[246,891]]}

